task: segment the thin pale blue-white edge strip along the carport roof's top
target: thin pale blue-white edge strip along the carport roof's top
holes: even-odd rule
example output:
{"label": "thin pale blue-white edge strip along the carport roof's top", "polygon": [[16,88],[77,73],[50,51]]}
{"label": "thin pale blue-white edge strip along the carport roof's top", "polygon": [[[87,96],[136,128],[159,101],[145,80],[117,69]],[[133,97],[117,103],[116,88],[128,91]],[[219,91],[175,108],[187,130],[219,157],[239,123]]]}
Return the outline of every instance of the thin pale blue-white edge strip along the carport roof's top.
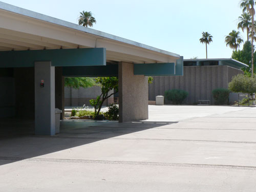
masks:
{"label": "thin pale blue-white edge strip along the carport roof's top", "polygon": [[67,28],[83,31],[83,32],[86,32],[86,33],[90,33],[90,34],[97,35],[97,36],[100,36],[100,37],[108,38],[108,39],[111,39],[111,40],[120,41],[120,42],[123,42],[125,44],[130,44],[130,45],[133,45],[133,46],[148,49],[148,50],[155,51],[155,52],[158,52],[158,53],[162,53],[162,54],[165,54],[165,55],[180,57],[180,55],[178,55],[176,53],[172,53],[172,52],[164,51],[164,50],[157,49],[157,48],[154,48],[154,47],[151,47],[151,46],[147,46],[147,45],[144,45],[144,44],[140,44],[139,42],[132,41],[132,40],[129,40],[129,39],[125,39],[125,38],[122,38],[122,37],[118,37],[118,36],[115,36],[115,35],[111,35],[109,33],[105,33],[105,32],[102,32],[102,31],[95,30],[95,29],[79,26],[79,25],[73,24],[71,22],[66,22],[65,20],[61,20],[61,19],[58,19],[58,18],[55,18],[55,17],[51,17],[51,16],[48,16],[48,15],[37,13],[37,12],[34,12],[34,11],[30,11],[28,9],[16,7],[14,5],[10,5],[10,4],[4,3],[4,2],[0,2],[0,9],[6,10],[6,11],[9,11],[9,12],[13,12],[13,13],[16,13],[16,14],[32,17],[32,18],[35,18],[35,19],[39,19],[39,20],[42,20],[44,22],[48,22],[48,23],[64,26],[64,27],[67,27]]}

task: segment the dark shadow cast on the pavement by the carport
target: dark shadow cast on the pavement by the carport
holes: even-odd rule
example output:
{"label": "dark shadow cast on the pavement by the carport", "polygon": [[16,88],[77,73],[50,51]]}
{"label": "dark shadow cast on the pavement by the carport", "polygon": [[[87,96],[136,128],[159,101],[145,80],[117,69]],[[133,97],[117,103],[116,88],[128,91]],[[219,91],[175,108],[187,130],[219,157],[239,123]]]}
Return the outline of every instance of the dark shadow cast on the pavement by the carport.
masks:
{"label": "dark shadow cast on the pavement by the carport", "polygon": [[63,120],[60,134],[35,136],[33,120],[0,119],[0,165],[172,123]]}

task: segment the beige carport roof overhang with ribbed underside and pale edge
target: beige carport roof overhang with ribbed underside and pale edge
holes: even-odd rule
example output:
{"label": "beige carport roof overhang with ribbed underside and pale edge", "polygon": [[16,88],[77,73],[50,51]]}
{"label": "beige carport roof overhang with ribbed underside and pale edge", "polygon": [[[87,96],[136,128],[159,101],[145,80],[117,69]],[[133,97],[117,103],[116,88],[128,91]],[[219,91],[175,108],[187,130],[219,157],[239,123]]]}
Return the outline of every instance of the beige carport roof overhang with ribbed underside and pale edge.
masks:
{"label": "beige carport roof overhang with ribbed underside and pale edge", "polygon": [[180,55],[0,2],[0,51],[105,48],[106,61],[169,63]]}

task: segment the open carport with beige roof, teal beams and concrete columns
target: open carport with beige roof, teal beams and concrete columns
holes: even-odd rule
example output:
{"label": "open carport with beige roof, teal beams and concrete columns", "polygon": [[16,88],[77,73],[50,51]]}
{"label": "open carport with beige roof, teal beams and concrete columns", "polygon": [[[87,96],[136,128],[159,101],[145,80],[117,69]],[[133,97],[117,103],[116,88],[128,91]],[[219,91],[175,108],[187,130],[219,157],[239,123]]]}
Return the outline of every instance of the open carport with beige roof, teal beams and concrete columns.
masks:
{"label": "open carport with beige roof, teal beams and concrete columns", "polygon": [[[64,77],[118,76],[119,121],[148,118],[148,75],[181,75],[183,57],[0,2],[0,117],[55,134]],[[64,110],[63,110],[64,111]]]}

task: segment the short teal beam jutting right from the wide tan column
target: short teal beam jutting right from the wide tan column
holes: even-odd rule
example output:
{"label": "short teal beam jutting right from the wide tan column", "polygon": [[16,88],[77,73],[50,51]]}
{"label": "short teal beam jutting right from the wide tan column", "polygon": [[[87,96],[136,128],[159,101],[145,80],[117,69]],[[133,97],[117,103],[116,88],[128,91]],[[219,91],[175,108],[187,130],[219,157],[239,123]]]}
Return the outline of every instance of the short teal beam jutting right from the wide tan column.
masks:
{"label": "short teal beam jutting right from the wide tan column", "polygon": [[175,63],[143,63],[134,64],[134,75],[160,76],[174,75]]}

